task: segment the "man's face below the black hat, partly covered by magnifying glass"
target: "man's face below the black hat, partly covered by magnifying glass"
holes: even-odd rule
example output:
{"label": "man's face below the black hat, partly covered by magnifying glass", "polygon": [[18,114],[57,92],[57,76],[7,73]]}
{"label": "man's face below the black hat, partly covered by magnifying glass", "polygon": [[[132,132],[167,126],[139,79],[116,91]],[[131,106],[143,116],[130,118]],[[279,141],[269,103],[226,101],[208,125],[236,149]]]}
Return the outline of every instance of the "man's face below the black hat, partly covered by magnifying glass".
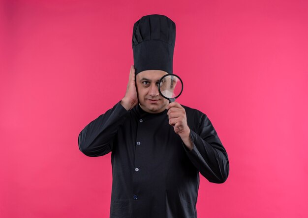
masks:
{"label": "man's face below the black hat, partly covered by magnifying glass", "polygon": [[165,74],[167,73],[164,71],[149,70],[136,75],[138,101],[144,111],[159,113],[169,104],[169,101],[158,92],[158,81]]}

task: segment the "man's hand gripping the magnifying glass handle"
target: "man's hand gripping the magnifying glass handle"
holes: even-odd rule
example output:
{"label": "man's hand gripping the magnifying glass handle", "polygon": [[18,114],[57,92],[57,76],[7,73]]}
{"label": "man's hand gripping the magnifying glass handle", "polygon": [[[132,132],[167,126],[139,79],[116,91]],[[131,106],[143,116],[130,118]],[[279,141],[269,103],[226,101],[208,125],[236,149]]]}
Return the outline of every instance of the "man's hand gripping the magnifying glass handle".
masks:
{"label": "man's hand gripping the magnifying glass handle", "polygon": [[174,132],[179,134],[184,144],[189,150],[192,149],[193,143],[189,137],[190,129],[187,125],[185,109],[177,102],[172,102],[167,106],[169,124],[173,126]]}

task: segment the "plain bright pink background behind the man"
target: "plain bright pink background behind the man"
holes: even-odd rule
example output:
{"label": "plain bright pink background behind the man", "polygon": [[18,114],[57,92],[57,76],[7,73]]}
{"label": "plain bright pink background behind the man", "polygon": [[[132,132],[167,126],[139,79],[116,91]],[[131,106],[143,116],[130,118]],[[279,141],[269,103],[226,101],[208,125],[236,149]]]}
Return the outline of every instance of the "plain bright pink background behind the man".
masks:
{"label": "plain bright pink background behind the man", "polygon": [[198,217],[308,217],[307,1],[0,0],[0,218],[109,217],[110,154],[77,138],[123,97],[133,24],[153,13],[177,24],[177,101],[229,154]]}

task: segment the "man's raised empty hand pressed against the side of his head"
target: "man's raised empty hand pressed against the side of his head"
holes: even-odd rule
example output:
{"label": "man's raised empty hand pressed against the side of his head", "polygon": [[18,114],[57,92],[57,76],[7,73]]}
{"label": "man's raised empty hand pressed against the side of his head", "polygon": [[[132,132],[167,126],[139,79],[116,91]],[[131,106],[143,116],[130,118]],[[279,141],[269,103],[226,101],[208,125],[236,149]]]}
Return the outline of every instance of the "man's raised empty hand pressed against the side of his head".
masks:
{"label": "man's raised empty hand pressed against the side of his head", "polygon": [[130,110],[137,104],[138,104],[138,97],[137,97],[136,82],[135,82],[135,69],[134,66],[132,65],[130,66],[130,73],[126,88],[126,93],[123,99],[121,100],[121,105],[126,110]]}

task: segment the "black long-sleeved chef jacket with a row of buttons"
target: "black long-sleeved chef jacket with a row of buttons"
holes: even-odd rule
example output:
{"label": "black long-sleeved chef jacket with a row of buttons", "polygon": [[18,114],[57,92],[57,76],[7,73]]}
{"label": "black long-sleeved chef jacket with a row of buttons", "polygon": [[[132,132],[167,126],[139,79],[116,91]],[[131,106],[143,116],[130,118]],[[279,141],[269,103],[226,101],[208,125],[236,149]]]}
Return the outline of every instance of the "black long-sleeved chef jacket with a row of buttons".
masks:
{"label": "black long-sleeved chef jacket with a row of buttons", "polygon": [[96,157],[112,151],[111,218],[196,218],[199,172],[222,183],[229,161],[217,133],[202,112],[185,107],[187,150],[168,123],[167,110],[127,111],[118,103],[79,134],[79,149]]}

